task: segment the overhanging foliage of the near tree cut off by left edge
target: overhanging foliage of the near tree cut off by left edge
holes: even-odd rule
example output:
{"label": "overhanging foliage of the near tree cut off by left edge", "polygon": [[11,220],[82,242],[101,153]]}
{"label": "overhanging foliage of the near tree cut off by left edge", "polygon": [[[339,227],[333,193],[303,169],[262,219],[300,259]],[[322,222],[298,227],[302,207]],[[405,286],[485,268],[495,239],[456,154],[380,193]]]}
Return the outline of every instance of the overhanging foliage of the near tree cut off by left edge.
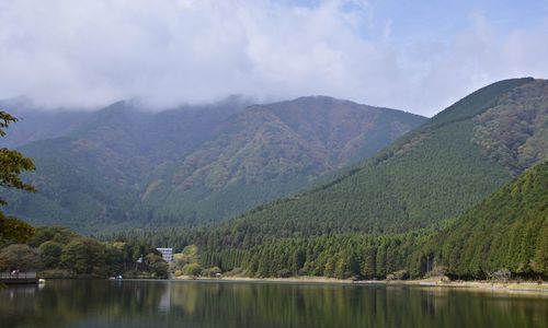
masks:
{"label": "overhanging foliage of the near tree cut off by left edge", "polygon": [[[5,129],[18,119],[10,114],[0,110],[0,137],[5,136]],[[20,175],[25,171],[34,171],[35,166],[31,159],[23,156],[15,150],[0,148],[0,187],[15,188],[26,191],[35,191],[34,187],[21,180]],[[0,198],[0,206],[7,204]],[[15,218],[5,218],[0,211],[0,242],[14,241],[24,243],[33,234],[33,229],[28,224]]]}

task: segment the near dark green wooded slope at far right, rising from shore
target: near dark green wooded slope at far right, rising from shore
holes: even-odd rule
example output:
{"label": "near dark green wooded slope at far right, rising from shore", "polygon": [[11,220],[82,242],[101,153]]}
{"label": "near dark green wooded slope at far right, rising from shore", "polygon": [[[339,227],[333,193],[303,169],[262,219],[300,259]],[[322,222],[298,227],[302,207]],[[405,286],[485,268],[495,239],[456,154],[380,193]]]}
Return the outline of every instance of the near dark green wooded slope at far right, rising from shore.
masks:
{"label": "near dark green wooded slope at far right, rising from shore", "polygon": [[481,278],[502,268],[548,276],[548,162],[467,211],[430,249],[455,276]]}

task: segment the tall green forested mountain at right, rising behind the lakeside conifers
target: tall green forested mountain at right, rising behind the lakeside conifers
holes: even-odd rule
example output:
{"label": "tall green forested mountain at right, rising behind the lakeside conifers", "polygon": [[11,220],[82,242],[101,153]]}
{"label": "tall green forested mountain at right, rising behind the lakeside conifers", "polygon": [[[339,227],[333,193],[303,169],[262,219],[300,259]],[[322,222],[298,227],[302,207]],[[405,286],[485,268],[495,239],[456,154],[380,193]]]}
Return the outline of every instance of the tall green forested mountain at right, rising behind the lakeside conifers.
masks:
{"label": "tall green forested mountain at right, rising behind the lakeside conifers", "polygon": [[331,183],[210,232],[222,247],[275,237],[403,233],[463,214],[548,159],[548,81],[496,82],[466,96]]}

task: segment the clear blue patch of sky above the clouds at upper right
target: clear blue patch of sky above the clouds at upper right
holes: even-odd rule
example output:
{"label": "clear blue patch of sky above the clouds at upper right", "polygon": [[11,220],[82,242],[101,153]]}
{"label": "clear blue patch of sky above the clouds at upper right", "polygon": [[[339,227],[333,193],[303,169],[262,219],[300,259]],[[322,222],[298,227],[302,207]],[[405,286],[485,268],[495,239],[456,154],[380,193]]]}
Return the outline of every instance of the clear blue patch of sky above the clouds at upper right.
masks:
{"label": "clear blue patch of sky above the clouds at upper right", "polygon": [[[318,8],[322,1],[301,0],[285,3]],[[347,1],[345,7],[363,11],[364,15],[375,21],[377,28],[381,28],[384,22],[390,21],[392,37],[399,40],[453,35],[466,28],[476,14],[484,16],[501,34],[515,28],[535,28],[548,17],[548,1],[530,0],[373,0]],[[367,28],[363,30],[364,37],[377,36],[368,32]]]}

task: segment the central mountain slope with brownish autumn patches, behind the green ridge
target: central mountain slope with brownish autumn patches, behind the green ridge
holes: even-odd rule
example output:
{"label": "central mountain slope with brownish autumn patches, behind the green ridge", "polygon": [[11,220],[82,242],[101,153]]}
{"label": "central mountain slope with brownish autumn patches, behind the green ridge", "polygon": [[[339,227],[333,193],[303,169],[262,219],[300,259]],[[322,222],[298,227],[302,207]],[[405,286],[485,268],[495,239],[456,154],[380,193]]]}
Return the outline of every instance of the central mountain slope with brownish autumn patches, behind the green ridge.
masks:
{"label": "central mountain slope with brownish autumn patches, behind the green ridge", "polygon": [[329,97],[251,106],[164,167],[147,185],[144,202],[164,214],[218,221],[372,156],[423,120]]}

